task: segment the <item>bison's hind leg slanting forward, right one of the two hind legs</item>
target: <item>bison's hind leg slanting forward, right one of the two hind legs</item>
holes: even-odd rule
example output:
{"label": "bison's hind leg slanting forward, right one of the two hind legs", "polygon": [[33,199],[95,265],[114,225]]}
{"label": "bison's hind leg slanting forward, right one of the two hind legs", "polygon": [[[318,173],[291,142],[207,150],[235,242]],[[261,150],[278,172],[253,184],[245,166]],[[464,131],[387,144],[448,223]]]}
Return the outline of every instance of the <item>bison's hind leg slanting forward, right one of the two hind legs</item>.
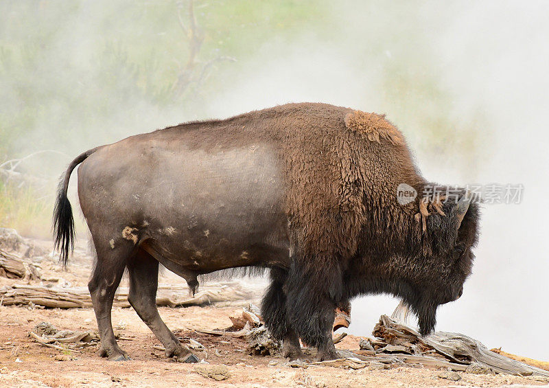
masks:
{"label": "bison's hind leg slanting forward, right one of the two hind legs", "polygon": [[159,262],[143,249],[139,249],[128,262],[128,271],[130,274],[128,301],[137,315],[164,345],[166,356],[174,357],[183,363],[198,363],[198,358],[167,328],[156,308]]}

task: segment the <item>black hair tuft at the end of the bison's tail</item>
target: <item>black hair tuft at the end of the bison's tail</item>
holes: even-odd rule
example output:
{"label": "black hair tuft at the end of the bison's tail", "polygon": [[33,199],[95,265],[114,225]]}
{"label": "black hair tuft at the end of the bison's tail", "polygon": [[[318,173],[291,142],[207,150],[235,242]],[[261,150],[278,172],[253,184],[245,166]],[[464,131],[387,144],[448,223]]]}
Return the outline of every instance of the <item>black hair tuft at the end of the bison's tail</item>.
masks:
{"label": "black hair tuft at the end of the bison's tail", "polygon": [[73,209],[63,186],[61,180],[54,207],[54,247],[60,253],[59,261],[66,267],[69,252],[72,253],[74,247],[74,219]]}

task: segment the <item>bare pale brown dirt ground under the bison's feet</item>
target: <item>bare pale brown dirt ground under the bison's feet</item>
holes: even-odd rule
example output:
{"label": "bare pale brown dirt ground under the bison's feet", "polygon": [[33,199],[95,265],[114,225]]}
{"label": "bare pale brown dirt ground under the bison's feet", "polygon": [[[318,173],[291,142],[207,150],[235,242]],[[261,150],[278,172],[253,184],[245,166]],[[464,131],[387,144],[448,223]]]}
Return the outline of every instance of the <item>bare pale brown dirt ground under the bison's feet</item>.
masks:
{"label": "bare pale brown dirt ground under the bison's feet", "polygon": [[[80,251],[82,252],[82,251]],[[63,271],[45,255],[36,260],[43,284],[65,282],[86,284],[90,260],[77,258]],[[165,275],[163,284],[180,284],[174,275]],[[0,279],[0,286],[17,283]],[[19,280],[21,283],[21,280]],[[260,295],[258,295],[259,297]],[[43,321],[60,330],[97,330],[91,308],[43,309],[29,306],[0,307],[0,387],[515,387],[548,385],[544,378],[459,372],[460,380],[442,378],[443,369],[421,365],[340,369],[327,366],[291,367],[281,356],[250,356],[244,339],[200,334],[195,329],[231,326],[230,315],[237,316],[242,306],[160,308],[160,313],[183,342],[194,339],[205,346],[196,352],[200,364],[182,364],[167,359],[158,347],[161,343],[131,308],[113,309],[113,326],[119,344],[132,361],[106,361],[98,355],[99,345],[92,343],[80,352],[60,351],[34,341],[28,333]],[[371,333],[364,333],[369,336]],[[357,350],[360,338],[347,336],[337,347]],[[66,361],[59,361],[65,359]],[[221,369],[215,380],[208,372]],[[202,372],[200,374],[199,372]],[[205,376],[206,375],[206,376]]]}

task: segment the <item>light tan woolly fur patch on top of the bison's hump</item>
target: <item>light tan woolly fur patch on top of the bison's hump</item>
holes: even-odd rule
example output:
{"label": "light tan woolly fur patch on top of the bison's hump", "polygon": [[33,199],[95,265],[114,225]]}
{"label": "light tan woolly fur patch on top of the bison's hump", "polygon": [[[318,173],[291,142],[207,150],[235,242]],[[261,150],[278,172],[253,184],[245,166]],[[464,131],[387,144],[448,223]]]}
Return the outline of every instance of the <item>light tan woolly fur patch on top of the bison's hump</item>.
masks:
{"label": "light tan woolly fur patch on top of the bison's hump", "polygon": [[385,115],[353,111],[345,116],[345,126],[355,132],[364,133],[370,141],[379,143],[379,139],[387,139],[395,145],[404,144],[404,137]]}

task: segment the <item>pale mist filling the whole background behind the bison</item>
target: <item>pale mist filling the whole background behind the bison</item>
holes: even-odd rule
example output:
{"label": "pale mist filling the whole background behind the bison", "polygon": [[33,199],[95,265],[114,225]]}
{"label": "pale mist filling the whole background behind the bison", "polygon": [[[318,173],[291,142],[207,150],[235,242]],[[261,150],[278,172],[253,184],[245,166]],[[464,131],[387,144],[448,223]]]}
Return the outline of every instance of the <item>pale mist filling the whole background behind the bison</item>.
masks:
{"label": "pale mist filling the whole background behind the bison", "polygon": [[[0,163],[62,152],[21,166],[49,177],[49,201],[76,155],[136,133],[285,102],[385,113],[426,179],[524,185],[519,204],[483,206],[474,273],[436,330],[549,358],[528,330],[549,319],[548,3],[283,2],[246,19],[244,1],[196,1],[204,43],[175,94],[165,91],[189,56],[185,1],[21,3],[0,5]],[[355,299],[350,332],[370,335],[397,303]]]}

